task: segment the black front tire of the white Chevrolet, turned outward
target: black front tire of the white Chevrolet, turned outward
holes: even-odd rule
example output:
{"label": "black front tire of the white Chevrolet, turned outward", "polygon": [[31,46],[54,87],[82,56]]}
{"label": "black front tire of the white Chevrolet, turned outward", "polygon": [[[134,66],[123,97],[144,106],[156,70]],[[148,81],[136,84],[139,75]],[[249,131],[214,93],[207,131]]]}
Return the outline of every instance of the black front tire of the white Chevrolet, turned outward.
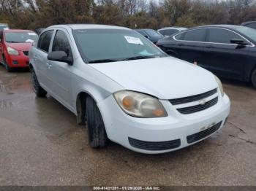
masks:
{"label": "black front tire of the white Chevrolet, turned outward", "polygon": [[108,137],[102,115],[95,101],[91,97],[86,98],[86,122],[88,126],[89,144],[93,148],[106,147]]}

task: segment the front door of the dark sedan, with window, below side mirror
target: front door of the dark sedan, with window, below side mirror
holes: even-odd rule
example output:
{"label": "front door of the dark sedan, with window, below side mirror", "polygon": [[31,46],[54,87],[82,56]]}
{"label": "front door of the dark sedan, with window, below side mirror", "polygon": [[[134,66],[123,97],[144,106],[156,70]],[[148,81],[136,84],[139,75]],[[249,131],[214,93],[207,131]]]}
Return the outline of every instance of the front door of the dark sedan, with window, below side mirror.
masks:
{"label": "front door of the dark sedan, with window, below side mirror", "polygon": [[[225,28],[209,28],[203,62],[214,74],[230,79],[243,79],[244,64],[248,61],[249,46],[238,47],[231,39],[244,39]],[[249,43],[249,42],[248,42]]]}

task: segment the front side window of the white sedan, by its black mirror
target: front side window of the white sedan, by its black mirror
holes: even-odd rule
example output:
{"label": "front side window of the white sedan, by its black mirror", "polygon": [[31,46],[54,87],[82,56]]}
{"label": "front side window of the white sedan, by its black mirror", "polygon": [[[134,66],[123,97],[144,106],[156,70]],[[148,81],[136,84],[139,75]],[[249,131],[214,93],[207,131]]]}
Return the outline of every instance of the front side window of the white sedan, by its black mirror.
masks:
{"label": "front side window of the white sedan, by its black mirror", "polygon": [[64,51],[67,53],[67,56],[72,57],[72,50],[69,44],[69,40],[67,39],[67,35],[64,31],[57,31],[55,38],[53,40],[53,48],[52,51]]}

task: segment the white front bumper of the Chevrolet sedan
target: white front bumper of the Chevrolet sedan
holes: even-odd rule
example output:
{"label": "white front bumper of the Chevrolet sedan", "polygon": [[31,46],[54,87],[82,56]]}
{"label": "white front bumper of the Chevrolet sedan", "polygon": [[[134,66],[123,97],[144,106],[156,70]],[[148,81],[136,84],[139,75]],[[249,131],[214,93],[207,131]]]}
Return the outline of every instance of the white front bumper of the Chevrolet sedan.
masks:
{"label": "white front bumper of the Chevrolet sedan", "polygon": [[[157,154],[195,144],[220,130],[230,114],[230,100],[227,95],[222,98],[219,93],[218,96],[219,101],[216,105],[194,114],[181,114],[169,101],[161,101],[168,114],[167,117],[162,118],[131,117],[120,109],[112,95],[98,103],[98,106],[105,123],[108,139],[136,152]],[[218,127],[211,130],[214,125],[218,124]],[[200,136],[202,134],[203,136]],[[197,139],[193,139],[192,135],[197,136]],[[191,141],[191,138],[194,141]],[[132,141],[135,141],[135,144]],[[162,149],[164,147],[155,149],[156,147],[151,144],[156,142],[164,146],[170,144],[173,147],[171,149]],[[143,144],[149,146],[142,147]]]}

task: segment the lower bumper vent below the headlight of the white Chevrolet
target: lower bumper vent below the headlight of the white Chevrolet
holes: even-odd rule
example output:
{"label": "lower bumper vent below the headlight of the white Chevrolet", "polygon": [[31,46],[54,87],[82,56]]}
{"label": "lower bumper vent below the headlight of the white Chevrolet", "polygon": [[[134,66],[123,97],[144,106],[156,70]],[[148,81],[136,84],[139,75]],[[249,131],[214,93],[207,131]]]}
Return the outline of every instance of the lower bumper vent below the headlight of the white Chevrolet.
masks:
{"label": "lower bumper vent below the headlight of the white Chevrolet", "polygon": [[162,141],[162,142],[151,142],[151,141],[140,141],[137,139],[132,139],[128,137],[129,144],[132,147],[144,150],[167,150],[167,149],[175,149],[181,146],[181,139],[176,139],[172,141]]}

